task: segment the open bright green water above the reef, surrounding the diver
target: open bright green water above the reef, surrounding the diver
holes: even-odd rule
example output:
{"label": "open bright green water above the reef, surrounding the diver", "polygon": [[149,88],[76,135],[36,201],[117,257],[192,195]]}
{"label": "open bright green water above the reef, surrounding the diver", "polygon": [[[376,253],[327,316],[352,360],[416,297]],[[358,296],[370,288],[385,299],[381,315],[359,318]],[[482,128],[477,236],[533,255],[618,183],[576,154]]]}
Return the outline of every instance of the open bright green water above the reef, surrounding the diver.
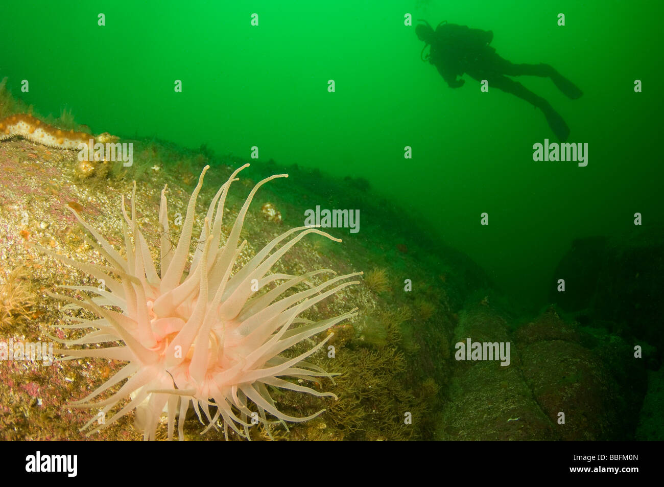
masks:
{"label": "open bright green water above the reef, surrounding the diver", "polygon": [[[662,5],[7,2],[0,78],[35,111],[68,108],[94,132],[244,158],[258,146],[258,164],[365,177],[404,209],[404,227],[426,221],[511,296],[541,304],[572,239],[628,235],[635,212],[644,225],[663,223]],[[546,78],[519,78],[564,117],[568,142],[588,143],[588,166],[533,161],[533,144],[555,140],[542,114],[499,90],[480,92],[467,75],[448,88],[420,60],[424,44],[406,13],[491,30],[504,58],[546,62],[578,84],[584,96],[569,100]]]}

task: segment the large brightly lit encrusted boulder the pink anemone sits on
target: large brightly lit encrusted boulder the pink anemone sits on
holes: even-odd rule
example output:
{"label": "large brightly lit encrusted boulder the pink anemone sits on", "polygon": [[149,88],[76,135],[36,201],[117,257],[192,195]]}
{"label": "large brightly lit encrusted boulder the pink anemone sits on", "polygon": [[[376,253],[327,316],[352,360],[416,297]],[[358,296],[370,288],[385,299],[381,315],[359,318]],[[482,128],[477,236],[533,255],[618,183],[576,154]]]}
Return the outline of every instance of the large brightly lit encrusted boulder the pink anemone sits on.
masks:
{"label": "large brightly lit encrusted boulder the pink anemone sits on", "polygon": [[[52,120],[58,125],[58,120]],[[203,208],[212,197],[212,189],[230,175],[232,168],[243,161],[235,157],[214,157],[198,151],[187,151],[157,140],[134,142],[134,163],[131,167],[97,163],[83,168],[78,164],[76,151],[60,151],[28,140],[9,140],[0,144],[0,287],[3,290],[2,340],[47,342],[51,334],[58,338],[76,338],[76,332],[65,334],[57,328],[64,324],[62,303],[48,296],[59,284],[98,286],[90,276],[57,259],[39,252],[34,244],[56,254],[71,256],[81,262],[102,264],[103,258],[86,241],[72,214],[66,207],[76,209],[104,235],[110,243],[121,247],[122,229],[119,215],[114,213],[122,195],[131,195],[132,181],[137,181],[137,215],[145,229],[158,229],[159,201],[155,188],[165,184],[171,195],[171,211],[185,213],[187,198],[197,180],[201,167],[209,164],[210,184],[201,193],[196,225],[202,225]],[[252,161],[247,189],[276,167],[275,163]],[[282,233],[286,225],[301,225],[303,212],[309,205],[334,205],[353,195],[353,185],[342,181],[327,181],[325,187],[337,187],[334,198],[311,191],[316,173],[296,169],[291,172],[288,189],[268,188],[259,193],[248,213],[242,238],[248,240],[248,258],[257,248]],[[303,191],[307,188],[306,191]],[[308,200],[301,201],[301,195]],[[354,197],[354,196],[353,196]],[[242,199],[230,195],[227,211],[237,211]],[[266,218],[266,205],[271,215]],[[355,199],[355,204],[359,201]],[[376,269],[376,278],[357,290],[345,290],[307,311],[303,315],[312,320],[328,316],[337,310],[347,311],[357,306],[361,314],[349,323],[330,330],[333,357],[326,351],[317,353],[312,362],[327,371],[338,373],[334,381],[326,381],[325,390],[335,393],[338,401],[323,399],[327,411],[307,423],[288,425],[272,432],[276,439],[329,440],[398,440],[432,438],[435,411],[440,409],[440,389],[446,382],[447,343],[442,322],[454,320],[448,290],[455,288],[454,278],[440,278],[446,266],[427,268],[420,261],[426,253],[415,235],[396,235],[386,238],[388,231],[380,219],[388,218],[384,209],[373,209],[360,203],[361,210],[374,215],[364,229],[361,239],[349,235],[343,248],[334,248],[315,239],[303,241],[282,258],[277,272],[298,274],[309,268],[335,268],[339,273],[369,266]],[[345,205],[349,206],[349,205]],[[381,215],[382,213],[382,215]],[[394,218],[394,216],[392,216]],[[226,229],[227,231],[228,229]],[[334,233],[334,231],[333,231]],[[146,239],[156,241],[157,231],[147,231]],[[398,246],[406,242],[407,254]],[[369,250],[371,249],[371,250]],[[388,252],[386,252],[388,249]],[[369,252],[367,252],[369,250]],[[426,253],[428,255],[428,253]],[[397,265],[390,260],[398,257]],[[393,262],[392,262],[393,263]],[[312,267],[313,266],[313,267]],[[389,266],[389,270],[386,270]],[[404,291],[404,280],[414,284],[413,292]],[[80,296],[79,296],[80,297]],[[72,332],[70,332],[72,333]],[[325,335],[317,338],[321,340]],[[447,346],[447,345],[445,345]],[[441,353],[443,351],[443,353]],[[291,353],[301,350],[294,347]],[[31,361],[0,361],[0,430],[4,439],[83,439],[78,428],[89,413],[68,405],[75,398],[84,397],[120,369],[122,363],[105,359],[74,359],[56,361],[46,366]],[[110,391],[112,392],[112,391]],[[285,413],[295,416],[311,414],[321,407],[321,399],[302,397],[282,391],[275,396]],[[201,437],[201,427],[195,417],[187,421],[187,439],[216,440],[223,437],[209,431]],[[92,439],[139,439],[133,419],[126,417]],[[165,427],[159,429],[165,438]],[[269,439],[262,428],[252,431],[254,439]]]}

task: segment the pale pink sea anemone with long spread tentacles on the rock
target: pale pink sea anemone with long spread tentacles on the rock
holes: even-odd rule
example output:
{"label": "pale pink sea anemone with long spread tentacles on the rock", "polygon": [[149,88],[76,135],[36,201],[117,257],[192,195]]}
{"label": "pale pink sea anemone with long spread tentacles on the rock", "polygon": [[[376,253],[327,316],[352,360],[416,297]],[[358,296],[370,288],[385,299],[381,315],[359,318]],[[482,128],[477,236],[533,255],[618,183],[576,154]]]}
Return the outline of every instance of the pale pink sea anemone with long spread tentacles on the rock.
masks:
{"label": "pale pink sea anemone with long spread tentacles on the rock", "polygon": [[[216,423],[222,421],[224,437],[228,438],[230,427],[240,437],[248,438],[252,425],[264,424],[269,434],[270,425],[274,423],[286,425],[285,421],[307,421],[325,411],[322,409],[307,417],[286,415],[277,409],[270,395],[270,387],[337,398],[333,393],[319,392],[301,385],[303,381],[316,382],[319,377],[333,375],[305,361],[309,355],[323,347],[330,336],[293,358],[283,357],[280,353],[355,316],[356,310],[351,310],[319,322],[298,318],[303,310],[313,304],[346,286],[357,284],[357,281],[339,282],[362,273],[333,277],[317,286],[309,284],[309,278],[335,272],[320,269],[301,276],[266,275],[280,257],[309,233],[341,242],[311,227],[298,227],[283,233],[247,264],[233,272],[236,259],[246,243],[244,241],[238,246],[238,237],[254,194],[264,183],[277,177],[288,177],[286,174],[274,175],[260,181],[252,189],[226,243],[222,245],[221,228],[226,194],[231,183],[238,180],[238,172],[246,166],[248,164],[234,171],[212,199],[189,272],[185,272],[185,267],[192,241],[195,205],[209,166],[203,169],[191,195],[175,248],[169,239],[166,187],[161,191],[159,223],[163,232],[160,239],[160,270],[157,270],[147,242],[136,223],[135,183],[131,197],[131,219],[127,215],[124,198],[122,201],[125,257],[72,209],[80,224],[94,237],[89,239],[90,244],[110,265],[100,266],[57,257],[103,280],[108,290],[94,286],[62,286],[95,293],[97,296],[86,298],[85,301],[69,296],[54,296],[72,303],[66,308],[83,308],[96,314],[99,319],[70,317],[76,324],[61,328],[96,330],[78,340],[60,341],[66,345],[123,341],[124,345],[60,349],[57,353],[67,355],[63,359],[103,357],[127,362],[90,395],[72,403],[74,407],[100,408],[104,415],[108,415],[120,401],[126,402],[102,425],[96,425],[98,415],[90,419],[81,429],[84,431],[92,427],[88,435],[112,425],[136,409],[137,427],[143,431],[146,440],[155,439],[164,412],[167,415],[169,439],[173,438],[175,418],[178,415],[178,435],[183,439],[184,420],[189,404],[192,403],[199,420],[203,422],[203,411],[209,422],[203,433],[210,427],[216,428]],[[133,234],[133,243],[129,230]],[[284,241],[286,243],[275,250]],[[56,256],[52,252],[48,253]],[[299,284],[308,287],[295,292],[293,288]],[[257,289],[264,290],[265,286],[269,286],[266,292],[256,292]],[[122,312],[115,310],[118,308]],[[288,378],[295,381],[286,380]],[[125,381],[122,387],[108,399],[88,402],[122,381]],[[213,409],[210,413],[210,406],[216,407],[216,412]]]}

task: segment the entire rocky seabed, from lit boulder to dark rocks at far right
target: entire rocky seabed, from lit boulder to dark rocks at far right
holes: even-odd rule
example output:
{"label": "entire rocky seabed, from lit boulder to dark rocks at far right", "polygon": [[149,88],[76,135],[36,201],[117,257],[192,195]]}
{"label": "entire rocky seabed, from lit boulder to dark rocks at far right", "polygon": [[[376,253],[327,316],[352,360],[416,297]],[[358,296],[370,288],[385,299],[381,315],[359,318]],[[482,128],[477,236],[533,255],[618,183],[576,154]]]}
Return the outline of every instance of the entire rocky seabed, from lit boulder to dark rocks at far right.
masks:
{"label": "entire rocky seabed, from lit boulder to dark rocks at far right", "polygon": [[[31,113],[0,89],[0,117]],[[63,130],[89,129],[70,114],[35,117]],[[183,149],[169,142],[133,140],[133,165],[96,161],[80,165],[75,151],[50,149],[28,140],[0,143],[0,342],[46,343],[55,334],[77,338],[62,325],[62,303],[50,298],[58,284],[98,286],[90,276],[39,252],[34,244],[80,262],[102,264],[66,207],[76,209],[100,233],[122,247],[115,213],[137,181],[137,218],[151,243],[158,241],[159,198],[169,187],[170,211],[186,213],[187,199],[201,168],[210,165],[199,196],[195,227],[232,169],[247,162],[218,156],[206,147]],[[331,373],[318,390],[339,399],[280,391],[274,400],[284,413],[319,417],[278,427],[270,434],[251,430],[254,440],[615,440],[658,438],[661,432],[661,241],[618,248],[602,239],[579,241],[556,275],[567,277],[564,296],[550,296],[535,316],[515,314],[487,275],[462,252],[435,241],[417,218],[380,196],[370,181],[336,179],[319,169],[250,161],[242,191],[228,197],[236,213],[256,181],[289,173],[265,187],[246,215],[241,237],[248,244],[240,260],[254,255],[285,228],[303,225],[305,211],[359,209],[361,231],[326,229],[343,244],[304,240],[278,262],[275,272],[303,274],[334,268],[339,274],[365,270],[365,278],[307,310],[319,320],[359,308],[352,320],[312,337],[289,351],[293,357],[330,334],[312,355]],[[404,225],[408,219],[408,226]],[[229,229],[224,228],[224,232]],[[177,235],[173,235],[174,239]],[[595,252],[598,244],[602,252]],[[155,248],[151,245],[151,248]],[[620,290],[612,287],[622,269]],[[584,276],[600,278],[582,279]],[[80,298],[80,296],[78,296]],[[511,343],[509,366],[499,361],[459,361],[456,344],[468,338]],[[635,357],[642,345],[643,358]],[[74,359],[44,365],[0,361],[0,438],[80,440],[89,412],[70,407],[122,367],[106,359]],[[109,391],[112,393],[112,391]],[[645,400],[644,400],[645,398]],[[564,421],[561,421],[564,417]],[[132,415],[90,437],[137,440]],[[659,428],[659,430],[657,430]],[[201,436],[196,417],[185,422],[189,440],[219,440],[214,429]],[[166,427],[157,432],[165,439]],[[661,439],[661,437],[659,437]],[[233,439],[233,438],[232,438]]]}

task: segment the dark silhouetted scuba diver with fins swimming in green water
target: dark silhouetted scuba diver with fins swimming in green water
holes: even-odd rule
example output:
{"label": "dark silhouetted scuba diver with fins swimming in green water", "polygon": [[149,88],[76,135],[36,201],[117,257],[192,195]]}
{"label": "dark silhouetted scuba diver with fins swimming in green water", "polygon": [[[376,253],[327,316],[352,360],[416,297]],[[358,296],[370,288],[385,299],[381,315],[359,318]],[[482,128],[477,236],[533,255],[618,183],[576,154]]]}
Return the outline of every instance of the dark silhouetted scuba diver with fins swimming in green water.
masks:
{"label": "dark silhouetted scuba diver with fins swimming in green water", "polygon": [[[420,53],[423,61],[428,60],[440,72],[440,76],[448,83],[450,88],[460,88],[464,80],[457,80],[457,76],[467,73],[471,78],[480,81],[487,80],[489,86],[498,88],[506,93],[518,96],[531,105],[542,110],[546,122],[556,134],[560,142],[565,142],[570,135],[570,128],[562,117],[541,96],[531,92],[523,84],[507,78],[507,76],[541,76],[550,78],[563,94],[572,98],[579,98],[583,92],[570,80],[564,78],[558,71],[548,64],[513,64],[501,58],[489,44],[493,40],[492,31],[470,29],[465,25],[448,24],[441,22],[432,29],[427,21],[415,28],[415,33],[426,45]],[[424,49],[430,45],[428,56],[422,57]]]}

